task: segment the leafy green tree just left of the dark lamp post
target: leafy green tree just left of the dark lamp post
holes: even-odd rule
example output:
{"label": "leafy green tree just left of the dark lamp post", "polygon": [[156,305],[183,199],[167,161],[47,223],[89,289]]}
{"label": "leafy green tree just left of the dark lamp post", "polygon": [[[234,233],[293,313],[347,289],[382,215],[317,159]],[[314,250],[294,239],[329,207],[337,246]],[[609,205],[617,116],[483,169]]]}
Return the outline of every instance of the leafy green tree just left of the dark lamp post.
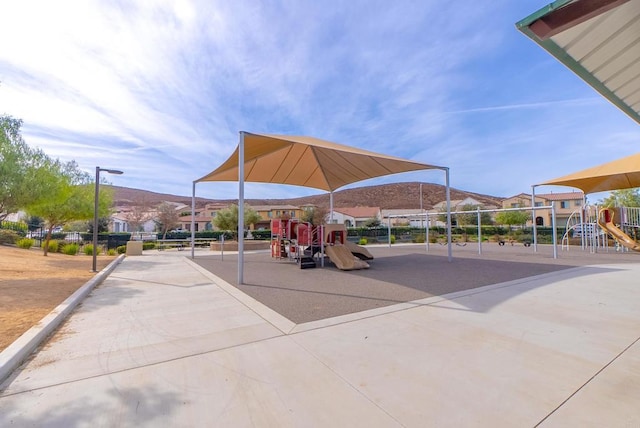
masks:
{"label": "leafy green tree just left of the dark lamp post", "polygon": [[[25,209],[46,222],[46,256],[53,228],[70,221],[93,218],[95,187],[91,175],[80,170],[74,161],[62,163],[47,159],[38,174],[42,192]],[[111,189],[102,188],[98,198],[98,216],[108,217],[112,201]]]}

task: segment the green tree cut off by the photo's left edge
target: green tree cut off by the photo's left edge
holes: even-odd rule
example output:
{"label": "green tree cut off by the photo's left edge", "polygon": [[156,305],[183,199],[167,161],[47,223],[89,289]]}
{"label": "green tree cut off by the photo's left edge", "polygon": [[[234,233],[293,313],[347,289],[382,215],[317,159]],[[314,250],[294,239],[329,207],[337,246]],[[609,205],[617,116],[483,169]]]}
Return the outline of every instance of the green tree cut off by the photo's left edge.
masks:
{"label": "green tree cut off by the photo's left edge", "polygon": [[40,168],[48,158],[20,135],[22,121],[0,116],[0,220],[42,195]]}

